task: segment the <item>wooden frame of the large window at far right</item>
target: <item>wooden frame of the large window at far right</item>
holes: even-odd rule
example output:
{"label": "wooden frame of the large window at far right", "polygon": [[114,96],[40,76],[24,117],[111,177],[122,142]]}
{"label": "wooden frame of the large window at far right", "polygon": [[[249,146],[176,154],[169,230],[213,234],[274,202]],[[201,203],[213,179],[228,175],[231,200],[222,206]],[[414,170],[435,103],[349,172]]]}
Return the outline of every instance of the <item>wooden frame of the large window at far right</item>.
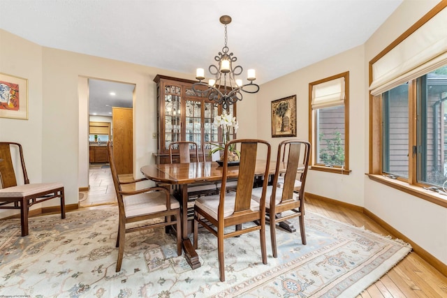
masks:
{"label": "wooden frame of the large window at far right", "polygon": [[[422,27],[427,21],[432,17],[437,15],[437,13],[444,10],[447,7],[446,1],[441,1],[437,6],[432,8],[426,15],[424,15],[418,22],[413,24],[408,30],[402,33],[401,36],[396,38],[393,43],[390,43],[383,51],[381,51],[376,57],[369,61],[369,85],[373,82],[373,65],[376,61],[379,61],[388,52],[393,50],[397,45],[402,43],[407,37],[411,36],[417,29]],[[409,152],[412,152],[413,146],[418,146],[418,140],[416,133],[418,131],[418,121],[417,121],[417,78],[409,80]],[[421,184],[417,179],[417,163],[418,159],[416,154],[409,154],[409,177],[397,177],[393,179],[386,177],[386,174],[382,169],[382,111],[383,111],[383,100],[382,96],[373,96],[369,92],[369,170],[367,176],[369,179],[384,184],[386,186],[395,188],[404,193],[416,196],[423,200],[427,200],[434,204],[438,204],[442,207],[447,208],[447,197],[433,191],[428,191],[424,189],[427,184]]]}

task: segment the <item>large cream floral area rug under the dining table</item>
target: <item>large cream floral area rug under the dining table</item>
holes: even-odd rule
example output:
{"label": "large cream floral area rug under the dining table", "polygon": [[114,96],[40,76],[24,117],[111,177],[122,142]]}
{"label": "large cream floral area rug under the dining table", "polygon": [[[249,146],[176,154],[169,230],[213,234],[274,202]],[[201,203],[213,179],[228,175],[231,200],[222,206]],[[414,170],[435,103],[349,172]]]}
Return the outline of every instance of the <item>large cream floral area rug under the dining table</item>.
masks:
{"label": "large cream floral area rug under the dining table", "polygon": [[[8,297],[356,297],[411,251],[403,241],[307,212],[307,245],[277,229],[278,258],[261,262],[258,232],[225,240],[219,281],[217,239],[198,235],[202,266],[177,256],[163,228],[126,235],[117,261],[117,207],[0,221],[0,296]],[[298,223],[295,222],[298,227]]]}

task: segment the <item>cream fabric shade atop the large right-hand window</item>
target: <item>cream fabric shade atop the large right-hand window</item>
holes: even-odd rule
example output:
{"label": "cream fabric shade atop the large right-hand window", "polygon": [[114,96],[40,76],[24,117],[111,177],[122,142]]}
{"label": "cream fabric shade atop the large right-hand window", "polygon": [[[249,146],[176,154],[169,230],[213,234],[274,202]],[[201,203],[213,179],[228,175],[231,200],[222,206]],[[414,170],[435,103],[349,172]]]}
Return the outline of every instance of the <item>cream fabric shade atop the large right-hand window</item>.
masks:
{"label": "cream fabric shade atop the large right-hand window", "polygon": [[372,66],[377,96],[447,64],[447,8],[402,40]]}

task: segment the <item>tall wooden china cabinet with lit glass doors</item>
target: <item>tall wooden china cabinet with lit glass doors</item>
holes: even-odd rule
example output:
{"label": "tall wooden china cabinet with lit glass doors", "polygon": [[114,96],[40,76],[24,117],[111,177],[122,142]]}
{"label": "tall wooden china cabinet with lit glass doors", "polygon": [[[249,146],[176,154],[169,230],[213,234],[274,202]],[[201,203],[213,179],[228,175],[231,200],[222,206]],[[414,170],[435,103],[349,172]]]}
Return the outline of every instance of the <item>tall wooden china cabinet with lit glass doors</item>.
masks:
{"label": "tall wooden china cabinet with lit glass doors", "polygon": [[[221,105],[208,100],[206,94],[196,94],[192,89],[196,81],[156,75],[154,82],[158,104],[157,163],[169,163],[169,144],[177,141],[196,142],[203,161],[203,144],[222,140],[221,132],[213,126],[214,117],[222,112]],[[235,105],[230,105],[228,114],[235,113]],[[205,157],[210,159],[207,154]]]}

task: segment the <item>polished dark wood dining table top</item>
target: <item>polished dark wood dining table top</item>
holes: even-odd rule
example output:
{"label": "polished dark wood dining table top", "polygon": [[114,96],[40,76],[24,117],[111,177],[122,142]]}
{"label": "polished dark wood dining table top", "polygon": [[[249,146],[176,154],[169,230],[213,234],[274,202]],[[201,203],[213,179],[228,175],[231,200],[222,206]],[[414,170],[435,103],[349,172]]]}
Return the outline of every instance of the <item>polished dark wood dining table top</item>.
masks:
{"label": "polished dark wood dining table top", "polygon": [[[276,161],[270,161],[269,172],[273,174]],[[285,167],[283,167],[285,168]],[[265,161],[256,161],[255,174],[263,174]],[[168,184],[193,184],[204,181],[219,181],[222,179],[223,166],[215,161],[193,163],[165,163],[158,165],[145,165],[141,167],[142,174],[156,182]],[[237,178],[239,165],[228,166],[227,177]]]}

